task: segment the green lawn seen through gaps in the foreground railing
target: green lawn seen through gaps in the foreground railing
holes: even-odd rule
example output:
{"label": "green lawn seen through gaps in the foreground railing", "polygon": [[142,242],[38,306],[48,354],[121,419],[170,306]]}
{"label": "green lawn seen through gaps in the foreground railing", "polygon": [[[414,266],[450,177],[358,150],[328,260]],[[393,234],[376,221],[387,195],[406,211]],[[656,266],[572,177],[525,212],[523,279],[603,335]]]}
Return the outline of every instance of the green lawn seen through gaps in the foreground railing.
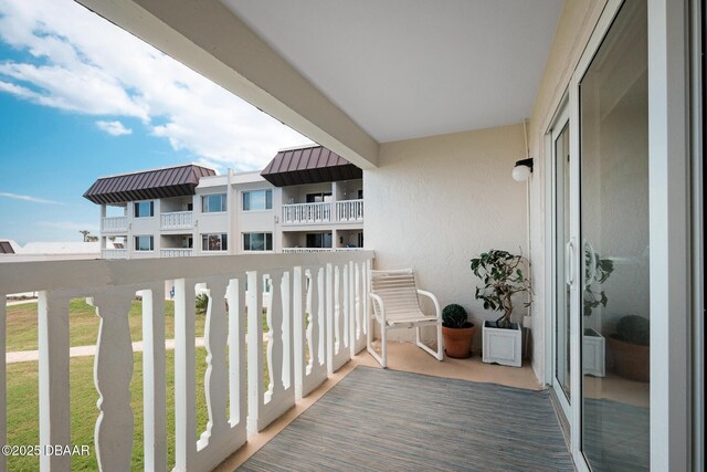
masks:
{"label": "green lawn seen through gaps in the foreground railing", "polygon": [[[173,337],[175,311],[173,302],[166,302],[166,338]],[[197,336],[203,336],[204,315],[197,315]],[[95,344],[98,334],[99,318],[95,308],[87,305],[83,298],[73,300],[70,304],[70,337],[72,346]],[[8,352],[36,349],[36,303],[29,303],[8,307]],[[131,340],[141,339],[140,302],[133,302],[129,313]],[[263,331],[267,331],[263,316]],[[263,355],[266,358],[267,344],[263,343]],[[196,356],[196,388],[197,388],[197,430],[194,440],[207,427],[208,412],[203,388],[207,350],[197,348]],[[134,353],[134,371],[130,384],[133,394],[133,410],[135,413],[135,436],[133,443],[131,470],[143,470],[143,353]],[[167,449],[168,465],[175,464],[175,352],[167,350]],[[70,364],[71,381],[71,437],[72,444],[89,444],[89,457],[72,458],[72,470],[97,470],[95,449],[93,444],[94,428],[98,418],[96,392],[93,381],[94,357],[74,357]],[[265,385],[267,385],[267,361],[263,366]],[[7,365],[7,396],[8,396],[8,443],[38,444],[39,443],[39,384],[38,363],[18,363]],[[225,415],[225,412],[224,412]],[[8,458],[8,470],[35,471],[39,459],[27,457]]]}

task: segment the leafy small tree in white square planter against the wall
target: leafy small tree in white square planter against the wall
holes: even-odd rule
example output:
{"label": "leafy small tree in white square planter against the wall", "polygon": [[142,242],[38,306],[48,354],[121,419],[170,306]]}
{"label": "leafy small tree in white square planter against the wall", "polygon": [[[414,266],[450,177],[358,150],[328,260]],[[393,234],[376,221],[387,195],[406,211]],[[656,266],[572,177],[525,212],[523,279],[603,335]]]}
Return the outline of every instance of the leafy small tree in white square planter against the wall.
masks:
{"label": "leafy small tree in white square planter against the wall", "polygon": [[484,322],[483,360],[520,367],[520,326],[511,321],[513,297],[531,293],[530,281],[524,274],[528,261],[523,255],[492,249],[471,262],[472,272],[483,283],[476,287],[474,296],[484,301],[485,310],[502,313],[495,322]]}

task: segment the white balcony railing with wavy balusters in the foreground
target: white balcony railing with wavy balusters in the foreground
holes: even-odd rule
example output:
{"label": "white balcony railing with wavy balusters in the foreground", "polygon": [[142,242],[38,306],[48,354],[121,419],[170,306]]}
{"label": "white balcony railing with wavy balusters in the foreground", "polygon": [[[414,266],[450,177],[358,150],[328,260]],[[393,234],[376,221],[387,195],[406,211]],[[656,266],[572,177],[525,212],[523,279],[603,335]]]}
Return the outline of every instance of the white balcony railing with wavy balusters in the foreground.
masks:
{"label": "white balcony railing with wavy balusters in the foreground", "polygon": [[[136,431],[130,406],[134,355],[128,313],[139,294],[145,470],[166,470],[163,287],[165,281],[173,280],[175,470],[210,471],[366,346],[366,293],[372,256],[371,251],[351,251],[228,255],[218,261],[7,263],[0,270],[0,347],[6,346],[6,295],[39,291],[39,440],[43,445],[71,444],[68,302],[91,297],[101,317],[94,359],[94,382],[101,398],[94,434],[96,459],[104,471],[130,470]],[[204,331],[209,422],[199,439],[194,437],[196,283],[205,284],[210,298]],[[266,286],[270,331],[267,349],[263,349],[262,293]],[[264,384],[265,365],[270,389]],[[7,438],[4,363],[0,381],[0,438]],[[40,457],[41,470],[68,468],[67,454]],[[0,455],[0,470],[6,469],[7,458]]]}

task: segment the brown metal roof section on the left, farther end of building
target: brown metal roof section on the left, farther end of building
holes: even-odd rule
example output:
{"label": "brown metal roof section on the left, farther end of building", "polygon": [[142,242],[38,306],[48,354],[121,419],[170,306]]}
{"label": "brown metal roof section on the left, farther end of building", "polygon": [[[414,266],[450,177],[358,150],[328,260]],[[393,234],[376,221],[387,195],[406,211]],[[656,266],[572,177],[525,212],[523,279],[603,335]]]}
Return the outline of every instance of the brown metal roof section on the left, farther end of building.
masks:
{"label": "brown metal roof section on the left, farther end of building", "polygon": [[124,203],[135,200],[186,197],[194,195],[199,179],[215,176],[213,169],[189,164],[165,169],[102,177],[84,193],[98,204]]}

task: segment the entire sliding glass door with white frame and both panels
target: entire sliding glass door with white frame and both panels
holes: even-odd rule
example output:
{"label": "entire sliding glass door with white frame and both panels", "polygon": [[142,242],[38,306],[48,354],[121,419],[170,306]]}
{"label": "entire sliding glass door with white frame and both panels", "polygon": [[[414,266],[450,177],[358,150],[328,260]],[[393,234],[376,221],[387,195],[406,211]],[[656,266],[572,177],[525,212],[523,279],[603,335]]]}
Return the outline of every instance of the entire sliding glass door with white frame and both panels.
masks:
{"label": "entire sliding glass door with white frame and both panels", "polygon": [[547,140],[552,387],[593,471],[650,466],[647,12],[619,3]]}

